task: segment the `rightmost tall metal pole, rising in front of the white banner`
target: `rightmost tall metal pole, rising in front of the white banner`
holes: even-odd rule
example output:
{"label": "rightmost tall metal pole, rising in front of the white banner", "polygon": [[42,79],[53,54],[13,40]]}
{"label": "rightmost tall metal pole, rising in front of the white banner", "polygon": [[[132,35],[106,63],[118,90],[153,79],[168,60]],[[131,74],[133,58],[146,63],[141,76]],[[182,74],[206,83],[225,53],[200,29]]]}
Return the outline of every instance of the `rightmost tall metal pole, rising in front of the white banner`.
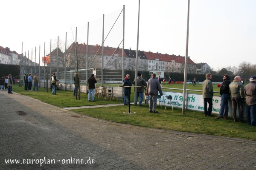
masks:
{"label": "rightmost tall metal pole, rising in front of the white banner", "polygon": [[189,1],[188,0],[188,17],[187,17],[187,34],[186,34],[186,56],[185,56],[185,68],[184,68],[184,85],[183,85],[183,103],[182,113],[185,113],[185,100],[186,100],[186,74],[187,74],[187,62],[188,62],[188,49],[189,49]]}

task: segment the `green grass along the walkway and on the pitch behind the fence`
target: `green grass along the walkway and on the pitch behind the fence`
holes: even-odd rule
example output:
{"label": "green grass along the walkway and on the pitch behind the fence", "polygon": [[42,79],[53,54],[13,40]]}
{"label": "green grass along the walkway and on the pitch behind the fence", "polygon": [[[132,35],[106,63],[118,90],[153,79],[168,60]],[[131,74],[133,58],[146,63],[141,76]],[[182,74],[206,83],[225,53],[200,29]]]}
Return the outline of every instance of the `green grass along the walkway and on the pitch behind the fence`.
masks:
{"label": "green grass along the walkway and on the pitch behind the fence", "polygon": [[[169,86],[172,86],[172,88],[183,88],[182,84],[163,85],[163,88],[168,88]],[[187,88],[201,90],[201,85],[199,84],[194,87],[193,85],[188,84]],[[105,100],[97,99],[97,97],[96,102],[88,102],[87,94],[81,94],[81,100],[76,100],[72,91],[58,90],[57,95],[55,96],[51,94],[50,90],[47,93],[45,88],[40,88],[39,91],[24,91],[24,89],[18,87],[18,85],[13,86],[13,91],[39,99],[60,108],[122,103],[120,98],[117,98],[116,100]],[[214,91],[218,91],[218,88],[214,88]],[[131,99],[133,99],[133,97],[134,93],[132,92]],[[128,106],[124,105],[108,108],[99,107],[93,109],[75,109],[71,111],[112,122],[142,127],[177,130],[214,136],[226,136],[256,141],[256,127],[252,127],[246,123],[233,122],[233,118],[227,120],[215,119],[217,114],[213,117],[205,117],[202,112],[189,110],[185,111],[185,114],[182,114],[181,109],[174,108],[172,112],[171,108],[167,107],[166,111],[164,111],[163,108],[160,110],[159,106],[157,107],[157,111],[160,113],[149,113],[148,105],[145,104],[143,104],[143,106],[131,105],[131,111],[136,112],[136,114],[124,114],[123,112],[128,111]]]}

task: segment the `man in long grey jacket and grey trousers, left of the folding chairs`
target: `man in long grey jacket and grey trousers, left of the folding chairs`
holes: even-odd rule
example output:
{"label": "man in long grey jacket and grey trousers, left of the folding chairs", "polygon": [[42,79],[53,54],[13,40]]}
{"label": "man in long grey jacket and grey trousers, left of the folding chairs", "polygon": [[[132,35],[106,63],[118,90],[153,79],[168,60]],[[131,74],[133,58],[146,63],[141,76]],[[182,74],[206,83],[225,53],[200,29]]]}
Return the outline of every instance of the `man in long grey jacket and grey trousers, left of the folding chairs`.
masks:
{"label": "man in long grey jacket and grey trousers, left of the folding chairs", "polygon": [[158,92],[161,96],[163,96],[163,92],[160,86],[160,82],[158,79],[156,79],[156,74],[154,73],[152,74],[152,78],[148,80],[147,92],[149,94],[149,113],[158,113],[158,111],[156,111],[157,96]]}

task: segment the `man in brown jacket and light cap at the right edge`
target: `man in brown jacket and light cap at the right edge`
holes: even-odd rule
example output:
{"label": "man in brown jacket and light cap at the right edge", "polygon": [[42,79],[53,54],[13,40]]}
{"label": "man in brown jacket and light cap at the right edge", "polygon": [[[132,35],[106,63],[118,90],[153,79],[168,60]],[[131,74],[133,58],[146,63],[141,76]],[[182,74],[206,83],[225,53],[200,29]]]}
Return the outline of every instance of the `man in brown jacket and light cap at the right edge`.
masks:
{"label": "man in brown jacket and light cap at the right edge", "polygon": [[250,83],[244,88],[244,95],[247,123],[256,126],[256,76],[250,77]]}

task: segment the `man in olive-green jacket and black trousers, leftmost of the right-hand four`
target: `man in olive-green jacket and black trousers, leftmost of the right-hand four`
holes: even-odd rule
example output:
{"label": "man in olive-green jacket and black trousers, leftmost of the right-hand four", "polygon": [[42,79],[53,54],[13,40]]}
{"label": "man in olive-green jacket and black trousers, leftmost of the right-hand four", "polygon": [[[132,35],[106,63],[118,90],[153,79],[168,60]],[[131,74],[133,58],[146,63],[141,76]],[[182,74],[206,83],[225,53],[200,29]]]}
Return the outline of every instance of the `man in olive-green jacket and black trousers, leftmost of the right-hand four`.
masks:
{"label": "man in olive-green jacket and black trousers, leftmost of the right-hand four", "polygon": [[[203,88],[203,98],[204,98],[204,116],[212,116],[212,96],[213,96],[213,87],[212,87],[212,74],[205,75],[206,80],[204,80]],[[209,103],[209,108],[207,110],[207,103]]]}

